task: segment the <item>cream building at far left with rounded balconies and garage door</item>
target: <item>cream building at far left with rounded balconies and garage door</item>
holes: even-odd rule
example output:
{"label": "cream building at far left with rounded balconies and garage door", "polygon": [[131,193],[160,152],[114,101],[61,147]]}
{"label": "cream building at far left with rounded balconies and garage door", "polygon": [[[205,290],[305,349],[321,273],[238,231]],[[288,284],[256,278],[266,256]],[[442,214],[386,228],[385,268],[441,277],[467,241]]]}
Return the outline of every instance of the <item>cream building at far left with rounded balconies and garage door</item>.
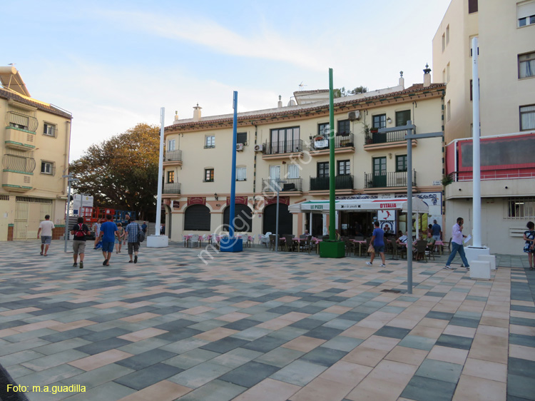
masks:
{"label": "cream building at far left with rounded balconies and garage door", "polygon": [[36,238],[49,214],[65,220],[71,113],[30,96],[19,71],[0,67],[0,240]]}

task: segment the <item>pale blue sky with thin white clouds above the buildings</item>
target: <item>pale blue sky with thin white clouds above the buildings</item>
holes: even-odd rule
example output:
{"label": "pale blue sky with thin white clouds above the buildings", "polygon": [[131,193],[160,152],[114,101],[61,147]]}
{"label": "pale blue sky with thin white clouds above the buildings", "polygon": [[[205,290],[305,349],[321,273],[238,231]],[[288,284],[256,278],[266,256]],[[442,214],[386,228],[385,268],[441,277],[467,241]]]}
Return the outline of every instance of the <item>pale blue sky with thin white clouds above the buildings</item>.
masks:
{"label": "pale blue sky with thin white clouds above the buildings", "polygon": [[[286,105],[294,91],[422,83],[449,0],[55,1],[2,5],[0,65],[73,113],[71,161],[138,123]],[[432,71],[434,73],[434,71]],[[300,86],[302,84],[302,86]]]}

